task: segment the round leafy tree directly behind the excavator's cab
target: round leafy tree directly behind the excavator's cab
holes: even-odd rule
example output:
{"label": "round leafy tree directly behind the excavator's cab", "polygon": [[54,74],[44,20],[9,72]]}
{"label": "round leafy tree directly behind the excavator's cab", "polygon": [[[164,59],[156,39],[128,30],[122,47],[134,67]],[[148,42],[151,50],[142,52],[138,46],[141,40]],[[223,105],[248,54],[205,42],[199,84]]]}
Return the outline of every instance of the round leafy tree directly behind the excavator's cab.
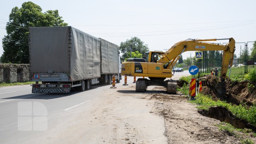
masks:
{"label": "round leafy tree directly behind the excavator's cab", "polygon": [[138,37],[132,37],[131,39],[127,39],[126,42],[121,42],[119,49],[123,53],[123,59],[130,58],[130,51],[138,51],[143,57],[145,57],[145,53],[149,51],[148,45],[144,44]]}

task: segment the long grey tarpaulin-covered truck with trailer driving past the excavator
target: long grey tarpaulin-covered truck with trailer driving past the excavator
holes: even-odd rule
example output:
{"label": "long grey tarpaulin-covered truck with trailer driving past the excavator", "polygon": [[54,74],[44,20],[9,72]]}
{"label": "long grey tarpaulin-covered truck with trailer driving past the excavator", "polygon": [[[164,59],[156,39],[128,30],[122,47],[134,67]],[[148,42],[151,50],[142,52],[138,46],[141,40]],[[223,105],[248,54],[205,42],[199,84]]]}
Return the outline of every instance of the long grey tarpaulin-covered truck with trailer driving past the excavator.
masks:
{"label": "long grey tarpaulin-covered truck with trailer driving past the excavator", "polygon": [[32,93],[69,93],[122,79],[119,47],[74,27],[29,27]]}

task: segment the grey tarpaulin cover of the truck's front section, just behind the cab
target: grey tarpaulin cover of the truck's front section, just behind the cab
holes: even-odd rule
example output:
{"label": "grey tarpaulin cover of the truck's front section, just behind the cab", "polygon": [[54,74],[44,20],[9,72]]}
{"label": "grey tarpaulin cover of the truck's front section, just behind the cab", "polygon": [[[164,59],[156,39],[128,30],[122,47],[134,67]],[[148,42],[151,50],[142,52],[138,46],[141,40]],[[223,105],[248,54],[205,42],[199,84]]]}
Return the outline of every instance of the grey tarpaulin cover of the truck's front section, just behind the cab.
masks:
{"label": "grey tarpaulin cover of the truck's front section, just behind the cab", "polygon": [[118,74],[119,47],[116,44],[101,39],[101,73]]}

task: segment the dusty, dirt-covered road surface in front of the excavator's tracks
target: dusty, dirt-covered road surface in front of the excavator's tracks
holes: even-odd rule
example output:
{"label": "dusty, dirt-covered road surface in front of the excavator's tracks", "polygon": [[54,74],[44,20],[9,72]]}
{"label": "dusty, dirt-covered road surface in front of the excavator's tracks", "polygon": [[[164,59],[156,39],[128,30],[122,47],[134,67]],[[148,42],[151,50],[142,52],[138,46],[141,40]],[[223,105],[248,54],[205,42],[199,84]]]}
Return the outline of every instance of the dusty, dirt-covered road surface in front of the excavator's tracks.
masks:
{"label": "dusty, dirt-covered road surface in front of the excavator's tracks", "polygon": [[[219,120],[202,116],[196,105],[178,92],[149,86],[135,92],[135,84],[106,89],[88,112],[70,111],[72,117],[48,131],[40,142],[88,144],[238,144],[218,130]],[[95,109],[95,107],[97,107]],[[82,108],[82,107],[81,107]],[[90,108],[90,107],[88,107]]]}

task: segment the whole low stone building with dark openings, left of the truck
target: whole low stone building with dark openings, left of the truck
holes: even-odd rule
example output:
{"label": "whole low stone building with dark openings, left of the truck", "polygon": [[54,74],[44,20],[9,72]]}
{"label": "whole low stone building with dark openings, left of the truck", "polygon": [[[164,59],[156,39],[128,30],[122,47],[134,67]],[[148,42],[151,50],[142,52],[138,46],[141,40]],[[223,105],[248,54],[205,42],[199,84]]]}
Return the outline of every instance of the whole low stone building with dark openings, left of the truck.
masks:
{"label": "whole low stone building with dark openings, left of the truck", "polygon": [[29,64],[0,63],[0,82],[29,81]]}

